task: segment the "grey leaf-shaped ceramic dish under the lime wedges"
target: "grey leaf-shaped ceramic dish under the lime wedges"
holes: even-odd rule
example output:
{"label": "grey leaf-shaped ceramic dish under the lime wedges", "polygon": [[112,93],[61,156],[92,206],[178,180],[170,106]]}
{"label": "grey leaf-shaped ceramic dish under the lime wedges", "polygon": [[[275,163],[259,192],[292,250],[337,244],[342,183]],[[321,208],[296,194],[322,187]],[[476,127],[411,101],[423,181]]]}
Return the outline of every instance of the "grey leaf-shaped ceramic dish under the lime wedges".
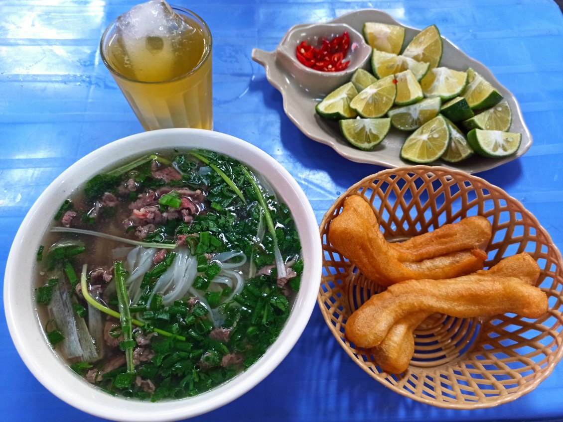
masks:
{"label": "grey leaf-shaped ceramic dish under the lime wedges", "polygon": [[[328,24],[347,24],[361,33],[365,22],[381,22],[403,26],[405,28],[405,41],[403,43],[403,47],[406,46],[414,35],[419,32],[419,29],[402,25],[385,12],[374,9],[350,12],[338,17],[337,19],[329,21]],[[295,31],[296,28],[299,29],[305,26],[310,27],[311,25],[314,26],[315,24],[296,25],[296,27],[290,29],[289,32]],[[302,86],[301,80],[303,76],[292,73],[291,69],[284,65],[283,60],[279,60],[279,57],[283,54],[284,40],[285,37],[282,39],[282,42],[280,42],[276,50],[271,52],[254,48],[252,51],[252,58],[254,61],[264,66],[266,70],[266,78],[273,87],[282,93],[285,114],[287,114],[289,119],[301,130],[301,132],[303,132],[303,134],[314,141],[332,147],[344,158],[358,163],[377,164],[387,168],[401,167],[403,165],[411,164],[401,160],[400,158],[401,146],[403,145],[406,136],[408,136],[405,132],[391,128],[385,140],[379,144],[376,149],[373,151],[361,151],[351,146],[345,140],[339,131],[337,122],[323,119],[317,115],[315,113],[315,106],[325,95],[332,91],[332,89],[331,87],[327,87],[324,91],[318,92],[306,89]],[[498,92],[502,94],[512,110],[512,124],[510,132],[521,133],[522,142],[516,154],[506,158],[487,159],[474,155],[457,164],[449,164],[441,160],[437,160],[433,164],[463,170],[467,173],[477,173],[498,167],[499,165],[508,163],[509,161],[515,160],[524,155],[525,152],[530,149],[533,140],[528,127],[524,122],[524,118],[516,98],[506,87],[502,86],[502,84],[498,82],[493,73],[491,73],[485,65],[469,57],[466,53],[459,50],[458,47],[444,37],[443,49],[443,55],[440,62],[441,66],[463,71],[468,68],[473,68],[477,71],[477,73],[481,74],[486,80],[493,84],[495,88],[497,88]],[[350,70],[355,70],[352,66],[350,66],[350,68]]]}

